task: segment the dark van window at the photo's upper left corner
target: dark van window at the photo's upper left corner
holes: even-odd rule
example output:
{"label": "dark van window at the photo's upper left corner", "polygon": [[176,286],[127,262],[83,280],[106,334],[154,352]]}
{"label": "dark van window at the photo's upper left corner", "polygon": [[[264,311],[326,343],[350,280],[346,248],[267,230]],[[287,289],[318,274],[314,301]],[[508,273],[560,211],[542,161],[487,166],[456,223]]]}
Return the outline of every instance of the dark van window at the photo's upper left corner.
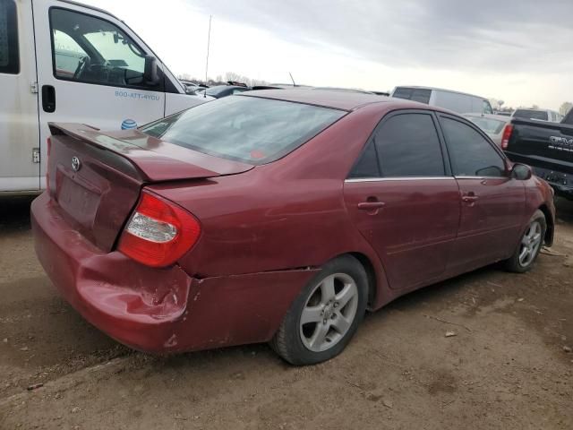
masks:
{"label": "dark van window at the photo's upper left corner", "polygon": [[20,73],[18,18],[13,0],[0,1],[0,73]]}

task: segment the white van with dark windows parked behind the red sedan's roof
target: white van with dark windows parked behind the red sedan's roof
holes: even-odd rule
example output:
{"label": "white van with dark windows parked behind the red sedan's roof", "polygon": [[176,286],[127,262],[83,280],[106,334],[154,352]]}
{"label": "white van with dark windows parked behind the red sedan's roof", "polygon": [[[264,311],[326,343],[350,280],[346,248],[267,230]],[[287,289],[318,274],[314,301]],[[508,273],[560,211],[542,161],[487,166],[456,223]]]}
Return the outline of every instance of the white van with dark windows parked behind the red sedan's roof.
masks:
{"label": "white van with dark windows parked behind the red sedan's roof", "polygon": [[465,92],[432,87],[396,87],[390,97],[418,101],[458,112],[458,114],[493,114],[492,105],[488,99]]}

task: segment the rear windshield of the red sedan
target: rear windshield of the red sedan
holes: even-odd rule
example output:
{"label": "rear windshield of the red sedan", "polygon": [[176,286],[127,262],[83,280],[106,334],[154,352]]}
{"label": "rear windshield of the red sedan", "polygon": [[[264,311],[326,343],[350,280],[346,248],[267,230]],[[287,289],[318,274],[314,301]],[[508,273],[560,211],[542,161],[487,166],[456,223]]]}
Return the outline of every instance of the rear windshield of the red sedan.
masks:
{"label": "rear windshield of the red sedan", "polygon": [[295,150],[346,112],[282,100],[230,96],[144,125],[185,148],[260,165]]}

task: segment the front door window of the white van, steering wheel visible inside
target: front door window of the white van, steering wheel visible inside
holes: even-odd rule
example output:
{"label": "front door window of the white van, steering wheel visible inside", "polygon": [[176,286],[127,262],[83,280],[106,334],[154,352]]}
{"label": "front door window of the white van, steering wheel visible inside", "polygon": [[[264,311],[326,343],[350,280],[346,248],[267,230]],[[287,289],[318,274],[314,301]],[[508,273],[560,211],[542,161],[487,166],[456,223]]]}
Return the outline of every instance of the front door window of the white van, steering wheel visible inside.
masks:
{"label": "front door window of the white van, steering wheel visible inside", "polygon": [[57,79],[159,90],[143,79],[145,53],[111,22],[51,8],[50,28]]}

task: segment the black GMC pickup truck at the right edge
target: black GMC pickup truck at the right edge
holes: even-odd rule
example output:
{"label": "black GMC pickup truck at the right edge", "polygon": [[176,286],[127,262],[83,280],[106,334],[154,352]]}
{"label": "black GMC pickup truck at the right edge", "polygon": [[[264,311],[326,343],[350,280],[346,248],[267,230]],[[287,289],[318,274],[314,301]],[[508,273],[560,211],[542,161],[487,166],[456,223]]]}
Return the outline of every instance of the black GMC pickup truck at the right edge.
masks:
{"label": "black GMC pickup truck at the right edge", "polygon": [[531,166],[556,194],[573,200],[573,110],[560,123],[514,117],[501,149],[511,161]]}

